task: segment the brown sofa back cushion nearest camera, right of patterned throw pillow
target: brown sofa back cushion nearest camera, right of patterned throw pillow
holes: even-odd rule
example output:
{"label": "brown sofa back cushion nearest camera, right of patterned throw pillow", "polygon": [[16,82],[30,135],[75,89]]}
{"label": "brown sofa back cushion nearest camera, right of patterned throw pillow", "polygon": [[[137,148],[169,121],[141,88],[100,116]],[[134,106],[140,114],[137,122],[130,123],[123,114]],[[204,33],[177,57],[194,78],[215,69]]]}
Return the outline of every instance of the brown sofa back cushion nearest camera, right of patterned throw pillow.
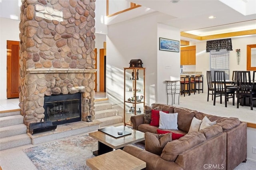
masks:
{"label": "brown sofa back cushion nearest camera, right of patterned throw pillow", "polygon": [[178,140],[168,142],[162,151],[161,158],[168,161],[175,161],[179,154],[197,146],[206,140],[201,132],[191,132]]}

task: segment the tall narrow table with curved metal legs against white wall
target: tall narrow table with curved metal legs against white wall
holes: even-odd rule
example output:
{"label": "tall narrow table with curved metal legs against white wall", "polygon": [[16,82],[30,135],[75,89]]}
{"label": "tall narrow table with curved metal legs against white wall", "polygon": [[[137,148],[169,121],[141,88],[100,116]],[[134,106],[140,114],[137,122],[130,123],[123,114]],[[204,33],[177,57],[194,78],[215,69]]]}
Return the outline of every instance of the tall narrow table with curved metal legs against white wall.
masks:
{"label": "tall narrow table with curved metal legs against white wall", "polygon": [[166,80],[166,94],[167,94],[167,105],[168,105],[168,95],[172,95],[172,105],[175,104],[175,95],[179,95],[178,104],[180,104],[180,80]]}

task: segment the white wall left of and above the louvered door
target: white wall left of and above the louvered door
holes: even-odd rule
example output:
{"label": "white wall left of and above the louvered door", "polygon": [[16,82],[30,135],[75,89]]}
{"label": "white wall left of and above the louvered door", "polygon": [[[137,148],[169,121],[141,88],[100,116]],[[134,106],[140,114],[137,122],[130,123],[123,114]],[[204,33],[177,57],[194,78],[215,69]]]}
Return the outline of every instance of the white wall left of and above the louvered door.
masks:
{"label": "white wall left of and above the louvered door", "polygon": [[6,98],[6,66],[7,66],[7,53],[6,45],[7,40],[20,41],[18,20],[11,20],[7,18],[0,18],[0,99]]}

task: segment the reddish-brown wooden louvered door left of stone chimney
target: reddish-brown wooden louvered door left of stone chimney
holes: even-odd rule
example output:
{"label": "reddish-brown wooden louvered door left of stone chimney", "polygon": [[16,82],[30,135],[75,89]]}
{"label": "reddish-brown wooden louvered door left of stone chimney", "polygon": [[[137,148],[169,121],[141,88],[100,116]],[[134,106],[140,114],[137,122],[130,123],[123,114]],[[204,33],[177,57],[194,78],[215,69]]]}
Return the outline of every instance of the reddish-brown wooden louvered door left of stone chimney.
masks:
{"label": "reddish-brown wooden louvered door left of stone chimney", "polygon": [[7,99],[19,97],[19,42],[7,40]]}

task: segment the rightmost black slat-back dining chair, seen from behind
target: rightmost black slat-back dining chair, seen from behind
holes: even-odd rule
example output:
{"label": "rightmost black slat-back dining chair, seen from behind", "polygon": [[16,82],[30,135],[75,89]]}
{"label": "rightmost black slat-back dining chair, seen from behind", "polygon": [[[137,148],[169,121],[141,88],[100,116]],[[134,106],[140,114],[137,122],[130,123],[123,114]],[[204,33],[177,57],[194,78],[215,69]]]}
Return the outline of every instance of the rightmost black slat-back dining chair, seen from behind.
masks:
{"label": "rightmost black slat-back dining chair, seen from behind", "polygon": [[[252,89],[250,71],[237,72],[237,108],[239,103],[244,106],[246,98],[249,98],[251,110],[253,110],[253,101],[256,100],[256,89]],[[240,101],[240,99],[242,99]]]}

